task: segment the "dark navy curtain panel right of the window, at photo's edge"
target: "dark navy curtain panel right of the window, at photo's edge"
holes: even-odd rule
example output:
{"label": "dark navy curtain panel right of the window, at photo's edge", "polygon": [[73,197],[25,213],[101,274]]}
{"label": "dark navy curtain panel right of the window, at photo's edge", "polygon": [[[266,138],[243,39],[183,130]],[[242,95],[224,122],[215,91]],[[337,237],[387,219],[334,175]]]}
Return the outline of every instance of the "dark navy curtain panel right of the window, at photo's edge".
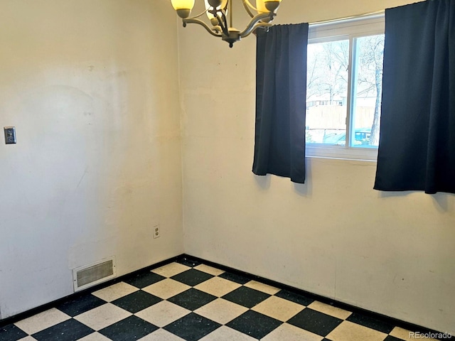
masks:
{"label": "dark navy curtain panel right of the window, at photo's edge", "polygon": [[455,193],[455,0],[385,11],[376,190]]}

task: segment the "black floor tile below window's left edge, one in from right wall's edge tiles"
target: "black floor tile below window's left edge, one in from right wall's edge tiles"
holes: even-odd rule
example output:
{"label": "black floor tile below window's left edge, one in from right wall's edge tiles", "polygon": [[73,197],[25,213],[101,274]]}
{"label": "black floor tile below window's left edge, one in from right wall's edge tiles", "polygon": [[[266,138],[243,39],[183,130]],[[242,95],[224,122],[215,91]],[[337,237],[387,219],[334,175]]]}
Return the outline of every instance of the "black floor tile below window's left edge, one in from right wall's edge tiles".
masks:
{"label": "black floor tile below window's left edge, one in from right wall's edge tiles", "polygon": [[305,308],[300,313],[291,318],[287,323],[296,327],[314,332],[314,334],[327,336],[329,332],[334,330],[343,320],[334,318],[319,311]]}

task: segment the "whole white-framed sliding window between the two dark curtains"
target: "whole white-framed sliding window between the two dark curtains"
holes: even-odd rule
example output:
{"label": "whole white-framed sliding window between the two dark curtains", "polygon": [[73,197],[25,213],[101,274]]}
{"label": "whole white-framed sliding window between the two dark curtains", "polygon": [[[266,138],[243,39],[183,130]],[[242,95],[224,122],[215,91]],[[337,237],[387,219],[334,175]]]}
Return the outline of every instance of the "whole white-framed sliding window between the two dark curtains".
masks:
{"label": "whole white-framed sliding window between the two dark curtains", "polygon": [[384,15],[310,25],[307,155],[375,160]]}

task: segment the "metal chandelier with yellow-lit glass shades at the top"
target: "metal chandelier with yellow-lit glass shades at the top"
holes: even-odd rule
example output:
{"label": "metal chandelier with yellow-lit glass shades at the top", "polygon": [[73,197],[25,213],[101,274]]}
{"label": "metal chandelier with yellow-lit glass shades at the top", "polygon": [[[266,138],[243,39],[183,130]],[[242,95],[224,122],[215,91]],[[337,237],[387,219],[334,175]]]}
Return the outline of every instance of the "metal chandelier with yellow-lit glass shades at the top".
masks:
{"label": "metal chandelier with yellow-lit glass shades at the top", "polygon": [[[183,19],[183,27],[187,23],[198,23],[203,26],[212,36],[221,38],[229,43],[232,48],[234,43],[250,35],[256,28],[267,28],[277,15],[279,3],[282,0],[256,0],[256,7],[249,0],[242,0],[245,11],[250,15],[250,23],[243,31],[232,27],[232,2],[233,0],[204,0],[205,11],[197,16],[190,17],[195,0],[171,0],[173,8],[178,16]],[[210,25],[200,20],[201,16],[207,15]],[[228,22],[229,16],[229,22]]]}

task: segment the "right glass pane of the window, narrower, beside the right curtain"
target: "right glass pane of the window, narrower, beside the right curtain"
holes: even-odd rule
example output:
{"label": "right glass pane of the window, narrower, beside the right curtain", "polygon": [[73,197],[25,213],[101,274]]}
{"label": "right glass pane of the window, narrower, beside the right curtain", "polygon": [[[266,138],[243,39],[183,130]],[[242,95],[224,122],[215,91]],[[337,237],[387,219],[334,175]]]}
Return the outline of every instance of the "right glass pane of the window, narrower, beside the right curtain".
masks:
{"label": "right glass pane of the window, narrower, beside the right curtain", "polygon": [[379,144],[384,35],[354,39],[353,129],[350,146]]}

